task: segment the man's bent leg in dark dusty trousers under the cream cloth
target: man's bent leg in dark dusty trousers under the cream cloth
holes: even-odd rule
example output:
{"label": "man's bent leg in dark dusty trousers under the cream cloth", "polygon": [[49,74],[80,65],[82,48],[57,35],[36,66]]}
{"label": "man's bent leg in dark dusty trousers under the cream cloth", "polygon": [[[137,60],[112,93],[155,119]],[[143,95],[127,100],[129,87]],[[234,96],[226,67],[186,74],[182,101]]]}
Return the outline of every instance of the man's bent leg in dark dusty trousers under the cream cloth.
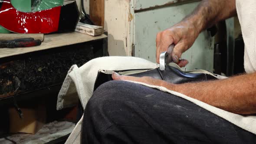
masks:
{"label": "man's bent leg in dark dusty trousers under the cream cloth", "polygon": [[98,142],[120,140],[119,142],[126,143],[254,143],[256,141],[254,134],[190,101],[123,81],[107,82],[95,91],[85,108],[83,130],[86,139]]}

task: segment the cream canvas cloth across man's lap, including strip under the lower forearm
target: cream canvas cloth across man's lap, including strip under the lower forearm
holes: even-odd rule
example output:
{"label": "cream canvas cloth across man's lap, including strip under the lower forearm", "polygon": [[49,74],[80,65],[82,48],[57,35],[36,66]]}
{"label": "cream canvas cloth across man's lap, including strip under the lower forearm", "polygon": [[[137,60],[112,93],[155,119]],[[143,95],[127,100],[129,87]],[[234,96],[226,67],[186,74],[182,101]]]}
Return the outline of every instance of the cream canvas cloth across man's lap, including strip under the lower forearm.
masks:
{"label": "cream canvas cloth across man's lap, including strip under the lower forearm", "polygon": [[[99,69],[105,70],[127,70],[127,69],[155,69],[158,65],[149,62],[145,59],[135,58],[135,57],[102,57],[93,59],[87,62],[85,65],[78,68],[73,65],[69,70],[68,75],[62,85],[59,92],[57,109],[62,109],[76,105],[78,100],[81,101],[83,108],[85,108],[87,101],[92,96],[94,83]],[[138,83],[138,82],[137,82]],[[230,113],[228,111],[215,108],[211,105],[198,101],[194,98],[187,97],[186,95],[180,94],[178,92],[170,91],[164,87],[148,85],[144,83],[139,83],[151,88],[157,88],[163,92],[169,92],[178,97],[187,99],[199,105],[200,107],[211,111],[212,113],[230,121],[231,123],[243,128],[246,131],[250,131],[256,134],[256,116],[243,116]],[[76,125],[72,134],[69,136],[66,144],[79,144],[82,129],[82,119]]]}

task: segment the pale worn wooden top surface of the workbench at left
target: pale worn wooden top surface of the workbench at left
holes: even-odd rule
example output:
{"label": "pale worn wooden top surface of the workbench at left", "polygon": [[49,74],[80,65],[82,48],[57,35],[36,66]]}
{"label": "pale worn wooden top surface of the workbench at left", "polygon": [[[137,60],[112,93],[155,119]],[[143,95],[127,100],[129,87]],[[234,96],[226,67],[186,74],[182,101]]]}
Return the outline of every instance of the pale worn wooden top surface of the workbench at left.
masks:
{"label": "pale worn wooden top surface of the workbench at left", "polygon": [[55,33],[45,35],[44,42],[41,46],[33,46],[27,48],[15,48],[15,49],[0,49],[0,58],[20,55],[28,52],[41,51],[45,49],[51,49],[60,46],[68,46],[76,43],[84,43],[97,39],[105,38],[105,35],[101,36],[89,36],[83,33]]}

